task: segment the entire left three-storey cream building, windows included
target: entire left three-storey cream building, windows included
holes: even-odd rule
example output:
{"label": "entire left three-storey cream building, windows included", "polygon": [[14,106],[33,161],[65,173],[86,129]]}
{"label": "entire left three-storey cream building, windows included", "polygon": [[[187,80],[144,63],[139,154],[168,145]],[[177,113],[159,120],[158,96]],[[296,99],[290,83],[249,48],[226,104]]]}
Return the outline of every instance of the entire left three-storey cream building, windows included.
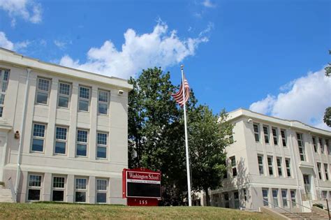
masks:
{"label": "entire left three-storey cream building, windows included", "polygon": [[0,182],[17,202],[126,203],[126,80],[0,49],[0,87]]}

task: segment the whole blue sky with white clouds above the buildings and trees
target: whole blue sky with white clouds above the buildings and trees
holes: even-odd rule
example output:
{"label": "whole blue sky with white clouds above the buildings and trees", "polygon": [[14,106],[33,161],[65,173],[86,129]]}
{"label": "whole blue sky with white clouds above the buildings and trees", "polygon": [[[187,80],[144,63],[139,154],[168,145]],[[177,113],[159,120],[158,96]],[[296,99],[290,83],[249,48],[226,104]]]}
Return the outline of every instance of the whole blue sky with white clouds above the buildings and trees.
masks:
{"label": "whole blue sky with white clouds above the buildings and trees", "polygon": [[200,104],[328,129],[331,1],[0,1],[0,47],[119,78],[180,64]]}

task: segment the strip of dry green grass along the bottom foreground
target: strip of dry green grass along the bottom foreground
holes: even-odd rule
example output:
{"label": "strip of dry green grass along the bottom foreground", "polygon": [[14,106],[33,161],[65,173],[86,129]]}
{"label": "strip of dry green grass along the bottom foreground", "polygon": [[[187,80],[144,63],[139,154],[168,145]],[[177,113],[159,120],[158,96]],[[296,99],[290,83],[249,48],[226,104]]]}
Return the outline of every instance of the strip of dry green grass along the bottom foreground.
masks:
{"label": "strip of dry green grass along the bottom foreground", "polygon": [[0,219],[272,219],[219,207],[126,207],[52,203],[0,203]]}

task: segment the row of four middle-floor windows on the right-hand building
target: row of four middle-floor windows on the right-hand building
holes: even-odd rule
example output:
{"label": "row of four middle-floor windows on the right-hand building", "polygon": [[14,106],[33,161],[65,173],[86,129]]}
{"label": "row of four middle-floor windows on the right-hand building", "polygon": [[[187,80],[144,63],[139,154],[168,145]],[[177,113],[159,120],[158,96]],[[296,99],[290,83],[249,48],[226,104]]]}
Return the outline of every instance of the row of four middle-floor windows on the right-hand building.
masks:
{"label": "row of four middle-floor windows on the right-hand building", "polygon": [[[290,173],[290,159],[286,158],[285,159],[285,173],[283,170],[283,159],[281,157],[276,158],[277,162],[277,176],[278,177],[291,177]],[[263,163],[263,155],[258,154],[258,170],[260,175],[265,175],[265,168],[264,168],[264,163]],[[274,157],[273,156],[267,156],[267,171],[270,176],[276,176],[274,172]]]}

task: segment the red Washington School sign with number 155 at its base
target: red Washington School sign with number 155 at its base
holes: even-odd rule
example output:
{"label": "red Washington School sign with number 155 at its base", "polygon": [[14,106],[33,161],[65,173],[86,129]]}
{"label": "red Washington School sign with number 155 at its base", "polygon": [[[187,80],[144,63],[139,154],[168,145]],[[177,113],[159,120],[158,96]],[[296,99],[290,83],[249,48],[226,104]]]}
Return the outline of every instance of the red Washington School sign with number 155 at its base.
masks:
{"label": "red Washington School sign with number 155 at its base", "polygon": [[161,199],[161,173],[145,168],[124,169],[123,198],[127,205],[155,206]]}

